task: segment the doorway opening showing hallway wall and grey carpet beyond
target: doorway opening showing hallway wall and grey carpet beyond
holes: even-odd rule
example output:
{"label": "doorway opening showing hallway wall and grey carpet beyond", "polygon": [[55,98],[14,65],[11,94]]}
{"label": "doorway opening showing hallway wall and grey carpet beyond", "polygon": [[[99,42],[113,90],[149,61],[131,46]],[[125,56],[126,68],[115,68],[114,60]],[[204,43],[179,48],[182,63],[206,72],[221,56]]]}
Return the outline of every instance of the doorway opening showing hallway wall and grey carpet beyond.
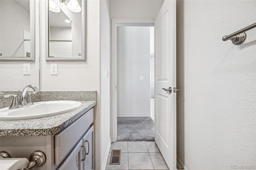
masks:
{"label": "doorway opening showing hallway wall and grey carpet beyond", "polygon": [[117,26],[117,141],[154,140],[153,72],[154,27]]}

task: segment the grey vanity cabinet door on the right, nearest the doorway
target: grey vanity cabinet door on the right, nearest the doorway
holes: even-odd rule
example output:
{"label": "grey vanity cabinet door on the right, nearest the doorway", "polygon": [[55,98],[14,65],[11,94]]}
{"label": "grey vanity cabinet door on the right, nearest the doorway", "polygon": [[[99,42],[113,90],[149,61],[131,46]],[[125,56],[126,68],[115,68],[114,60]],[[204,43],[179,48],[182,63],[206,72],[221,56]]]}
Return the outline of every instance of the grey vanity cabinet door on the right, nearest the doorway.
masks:
{"label": "grey vanity cabinet door on the right, nearest the doorway", "polygon": [[94,126],[92,126],[86,134],[83,136],[83,154],[82,154],[82,168],[83,170],[92,170],[93,169],[93,148],[94,148],[94,141],[93,141],[93,132]]}

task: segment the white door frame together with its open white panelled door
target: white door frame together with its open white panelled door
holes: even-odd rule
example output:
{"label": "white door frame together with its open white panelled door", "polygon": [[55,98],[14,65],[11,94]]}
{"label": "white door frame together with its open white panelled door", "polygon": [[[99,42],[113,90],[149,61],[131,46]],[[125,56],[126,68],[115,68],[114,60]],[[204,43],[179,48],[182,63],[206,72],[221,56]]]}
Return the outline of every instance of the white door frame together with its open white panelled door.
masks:
{"label": "white door frame together with its open white panelled door", "polygon": [[112,19],[111,137],[112,142],[116,142],[117,26],[154,26],[154,23],[155,141],[168,167],[176,169],[176,1],[164,1],[156,20]]}

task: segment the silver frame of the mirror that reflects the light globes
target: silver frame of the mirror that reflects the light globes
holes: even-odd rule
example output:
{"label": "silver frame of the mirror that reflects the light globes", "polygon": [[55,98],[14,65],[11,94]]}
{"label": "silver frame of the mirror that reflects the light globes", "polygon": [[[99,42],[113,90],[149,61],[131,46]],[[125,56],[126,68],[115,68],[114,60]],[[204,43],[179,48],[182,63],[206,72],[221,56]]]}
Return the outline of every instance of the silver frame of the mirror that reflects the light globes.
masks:
{"label": "silver frame of the mirror that reflects the light globes", "polygon": [[49,0],[45,1],[45,60],[86,61],[86,0],[82,0],[82,54],[81,57],[49,57]]}

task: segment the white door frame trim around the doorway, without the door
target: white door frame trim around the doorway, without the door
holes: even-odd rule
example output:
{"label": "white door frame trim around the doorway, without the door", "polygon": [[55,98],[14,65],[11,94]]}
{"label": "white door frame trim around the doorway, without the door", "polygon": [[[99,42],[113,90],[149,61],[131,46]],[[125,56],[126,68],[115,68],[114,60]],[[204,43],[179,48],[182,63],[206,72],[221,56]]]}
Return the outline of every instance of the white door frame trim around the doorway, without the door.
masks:
{"label": "white door frame trim around the doorway, without the door", "polygon": [[154,26],[154,18],[113,18],[111,24],[111,84],[110,84],[110,134],[111,141],[116,142],[117,139],[117,63],[116,63],[116,28],[117,26]]}

